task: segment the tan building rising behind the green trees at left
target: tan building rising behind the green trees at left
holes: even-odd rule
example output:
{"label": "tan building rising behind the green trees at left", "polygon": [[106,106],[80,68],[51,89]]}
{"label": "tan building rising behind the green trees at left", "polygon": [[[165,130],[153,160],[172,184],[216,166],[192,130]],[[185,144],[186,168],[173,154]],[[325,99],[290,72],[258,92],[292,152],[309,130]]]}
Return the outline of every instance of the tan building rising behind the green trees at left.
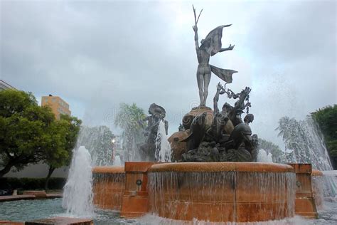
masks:
{"label": "tan building rising behind the green trees at left", "polygon": [[56,119],[60,119],[61,114],[70,115],[69,104],[66,103],[62,98],[58,96],[42,96],[41,106],[48,105],[53,113],[55,114]]}

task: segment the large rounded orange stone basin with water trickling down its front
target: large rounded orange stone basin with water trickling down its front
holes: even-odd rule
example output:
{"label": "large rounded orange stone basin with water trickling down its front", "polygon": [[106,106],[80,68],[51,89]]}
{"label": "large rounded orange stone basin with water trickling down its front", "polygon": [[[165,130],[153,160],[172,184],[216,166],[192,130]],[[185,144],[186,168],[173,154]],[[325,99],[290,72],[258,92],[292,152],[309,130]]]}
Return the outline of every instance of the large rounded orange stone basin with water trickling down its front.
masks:
{"label": "large rounded orange stone basin with water trickling down its front", "polygon": [[296,176],[287,164],[184,162],[148,170],[149,211],[184,221],[269,221],[294,216]]}

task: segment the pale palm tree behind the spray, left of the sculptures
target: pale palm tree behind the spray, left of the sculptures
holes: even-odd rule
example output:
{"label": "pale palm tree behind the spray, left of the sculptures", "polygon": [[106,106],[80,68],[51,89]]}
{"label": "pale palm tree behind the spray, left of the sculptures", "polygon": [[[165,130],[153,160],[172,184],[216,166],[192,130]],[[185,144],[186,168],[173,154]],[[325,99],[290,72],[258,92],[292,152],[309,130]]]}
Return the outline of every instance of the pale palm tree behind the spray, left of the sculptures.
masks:
{"label": "pale palm tree behind the spray, left of the sculptures", "polygon": [[134,145],[138,142],[143,142],[144,135],[141,133],[145,126],[144,110],[139,108],[136,104],[127,105],[122,103],[119,107],[119,112],[114,120],[115,125],[121,127],[122,140],[124,150],[126,150],[125,161],[132,160],[134,157]]}

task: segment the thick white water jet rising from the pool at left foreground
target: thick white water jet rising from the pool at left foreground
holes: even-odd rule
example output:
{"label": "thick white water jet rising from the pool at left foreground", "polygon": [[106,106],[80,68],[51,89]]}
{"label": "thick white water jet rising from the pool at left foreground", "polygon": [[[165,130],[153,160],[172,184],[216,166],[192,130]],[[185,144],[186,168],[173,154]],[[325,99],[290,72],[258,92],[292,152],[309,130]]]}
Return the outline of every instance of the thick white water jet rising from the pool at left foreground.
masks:
{"label": "thick white water jet rising from the pool at left foreground", "polygon": [[84,146],[73,152],[69,176],[63,188],[63,208],[68,214],[80,217],[94,215],[92,205],[92,166],[91,156]]}

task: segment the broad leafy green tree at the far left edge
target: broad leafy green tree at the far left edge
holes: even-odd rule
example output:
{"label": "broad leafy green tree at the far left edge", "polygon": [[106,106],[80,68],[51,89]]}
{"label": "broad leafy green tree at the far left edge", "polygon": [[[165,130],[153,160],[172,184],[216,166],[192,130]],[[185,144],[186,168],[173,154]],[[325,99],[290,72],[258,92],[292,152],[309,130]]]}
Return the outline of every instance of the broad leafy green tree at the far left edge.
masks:
{"label": "broad leafy green tree at the far left edge", "polygon": [[38,106],[31,93],[0,91],[0,177],[12,167],[22,169],[46,158],[58,142],[53,139],[55,117]]}

